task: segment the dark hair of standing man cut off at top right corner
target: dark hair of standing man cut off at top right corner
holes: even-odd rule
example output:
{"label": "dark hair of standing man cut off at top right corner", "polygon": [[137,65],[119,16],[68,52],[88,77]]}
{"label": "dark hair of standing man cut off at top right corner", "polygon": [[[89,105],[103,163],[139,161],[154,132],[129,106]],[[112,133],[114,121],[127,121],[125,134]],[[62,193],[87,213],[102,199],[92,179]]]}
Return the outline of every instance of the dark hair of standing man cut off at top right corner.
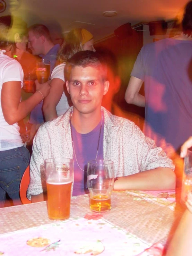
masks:
{"label": "dark hair of standing man cut off at top right corner", "polygon": [[191,36],[192,35],[192,1],[188,2],[185,6],[183,20],[182,20],[183,33]]}

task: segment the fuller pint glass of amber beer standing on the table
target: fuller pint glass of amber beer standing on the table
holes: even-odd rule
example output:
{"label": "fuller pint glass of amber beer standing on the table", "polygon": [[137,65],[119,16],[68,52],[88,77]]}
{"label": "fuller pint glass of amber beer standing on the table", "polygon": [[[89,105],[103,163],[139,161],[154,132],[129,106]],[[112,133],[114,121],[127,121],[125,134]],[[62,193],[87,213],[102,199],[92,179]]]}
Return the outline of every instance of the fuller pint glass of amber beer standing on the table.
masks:
{"label": "fuller pint glass of amber beer standing on the table", "polygon": [[66,220],[70,216],[73,166],[74,161],[69,158],[45,160],[47,209],[52,220]]}

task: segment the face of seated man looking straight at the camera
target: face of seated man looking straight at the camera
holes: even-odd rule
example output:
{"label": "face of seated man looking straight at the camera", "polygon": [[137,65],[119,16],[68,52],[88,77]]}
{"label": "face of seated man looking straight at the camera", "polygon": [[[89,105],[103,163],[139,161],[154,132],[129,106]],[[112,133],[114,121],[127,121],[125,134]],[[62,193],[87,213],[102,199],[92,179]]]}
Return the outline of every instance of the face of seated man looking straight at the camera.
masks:
{"label": "face of seated man looking straight at the camera", "polygon": [[72,68],[66,86],[73,108],[80,113],[88,114],[101,109],[102,98],[108,91],[109,82],[102,81],[101,70],[76,66]]}

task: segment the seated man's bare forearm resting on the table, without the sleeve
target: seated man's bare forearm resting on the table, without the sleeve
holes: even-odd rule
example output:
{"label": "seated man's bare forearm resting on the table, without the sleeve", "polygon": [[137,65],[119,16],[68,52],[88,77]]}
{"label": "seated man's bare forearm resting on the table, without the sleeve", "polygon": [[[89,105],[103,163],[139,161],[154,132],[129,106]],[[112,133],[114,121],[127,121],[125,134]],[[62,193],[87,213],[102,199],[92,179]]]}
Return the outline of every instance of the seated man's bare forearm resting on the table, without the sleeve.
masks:
{"label": "seated man's bare forearm resting on the table, without the sleeve", "polygon": [[175,188],[175,182],[172,169],[158,167],[116,178],[114,190],[171,190]]}

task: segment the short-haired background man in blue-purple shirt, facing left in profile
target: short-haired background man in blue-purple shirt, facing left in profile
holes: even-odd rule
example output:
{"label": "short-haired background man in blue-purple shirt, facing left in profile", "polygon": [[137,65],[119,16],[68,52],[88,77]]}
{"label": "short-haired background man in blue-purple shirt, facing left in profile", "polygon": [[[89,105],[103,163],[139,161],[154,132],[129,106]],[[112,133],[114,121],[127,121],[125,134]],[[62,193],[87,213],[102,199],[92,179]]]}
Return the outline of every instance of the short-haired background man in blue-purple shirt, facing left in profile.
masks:
{"label": "short-haired background man in blue-purple shirt, facing left in profile", "polygon": [[[53,44],[49,29],[43,24],[34,24],[28,28],[28,48],[33,55],[39,55],[42,59],[50,61],[50,77],[55,67],[56,57],[59,50],[59,44]],[[32,123],[31,139],[33,139],[37,129],[44,122],[42,112],[43,102],[38,104],[31,112],[29,123]]]}

